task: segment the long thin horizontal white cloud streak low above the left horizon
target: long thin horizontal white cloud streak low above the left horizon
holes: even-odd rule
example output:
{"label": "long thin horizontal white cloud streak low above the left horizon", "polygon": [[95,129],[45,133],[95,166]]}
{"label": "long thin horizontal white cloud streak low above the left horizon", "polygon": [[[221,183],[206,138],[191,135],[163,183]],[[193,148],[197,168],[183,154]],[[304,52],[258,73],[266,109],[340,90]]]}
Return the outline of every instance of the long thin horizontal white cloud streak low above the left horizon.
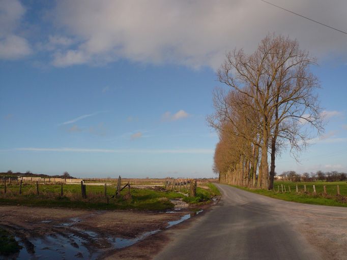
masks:
{"label": "long thin horizontal white cloud streak low above the left horizon", "polygon": [[[15,148],[17,151],[32,152],[104,152],[104,153],[191,153],[191,154],[213,154],[213,149],[85,149],[85,148],[37,148],[22,147]],[[8,151],[8,150],[7,150]]]}

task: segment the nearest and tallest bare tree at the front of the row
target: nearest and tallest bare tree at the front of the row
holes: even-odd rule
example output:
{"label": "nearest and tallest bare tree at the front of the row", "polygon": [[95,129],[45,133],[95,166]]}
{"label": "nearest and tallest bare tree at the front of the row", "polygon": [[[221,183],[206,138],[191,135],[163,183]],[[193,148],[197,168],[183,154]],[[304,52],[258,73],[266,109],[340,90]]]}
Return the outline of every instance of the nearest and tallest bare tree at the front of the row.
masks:
{"label": "nearest and tallest bare tree at the front of the row", "polygon": [[259,175],[262,177],[259,177],[258,186],[273,188],[278,138],[289,142],[291,149],[300,151],[310,137],[303,122],[318,131],[323,129],[319,103],[314,95],[314,89],[319,85],[309,71],[314,63],[315,59],[307,51],[299,49],[297,41],[268,35],[252,54],[247,55],[242,49],[229,52],[218,70],[219,81],[247,96],[254,113],[259,116]]}

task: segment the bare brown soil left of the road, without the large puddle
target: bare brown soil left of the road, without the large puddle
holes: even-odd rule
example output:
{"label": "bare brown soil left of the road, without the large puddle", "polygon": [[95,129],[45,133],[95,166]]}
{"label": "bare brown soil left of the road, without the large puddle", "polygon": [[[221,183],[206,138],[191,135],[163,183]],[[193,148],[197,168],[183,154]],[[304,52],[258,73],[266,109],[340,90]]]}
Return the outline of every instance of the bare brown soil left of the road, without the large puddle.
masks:
{"label": "bare brown soil left of the road, without the large puddle", "polygon": [[[144,232],[164,229],[168,221],[178,220],[188,212],[187,210],[162,213],[0,206],[0,227],[20,238],[27,249],[33,247],[30,240],[35,237],[74,234],[88,240],[88,246],[94,248],[93,250],[100,249],[102,255],[109,255],[117,250],[112,249],[107,241],[108,238],[135,238]],[[97,238],[86,235],[84,231],[97,233]]]}

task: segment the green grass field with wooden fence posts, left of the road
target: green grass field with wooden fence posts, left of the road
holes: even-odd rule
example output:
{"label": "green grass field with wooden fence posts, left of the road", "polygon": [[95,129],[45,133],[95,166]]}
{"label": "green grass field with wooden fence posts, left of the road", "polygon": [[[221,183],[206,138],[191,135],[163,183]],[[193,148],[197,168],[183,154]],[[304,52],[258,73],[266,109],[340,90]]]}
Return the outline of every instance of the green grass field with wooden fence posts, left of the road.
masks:
{"label": "green grass field with wooden fence posts, left of the road", "polygon": [[22,194],[19,194],[19,185],[16,183],[8,184],[7,193],[4,194],[4,185],[2,184],[0,185],[0,205],[165,210],[173,207],[170,202],[171,199],[181,198],[190,204],[209,202],[212,197],[217,195],[217,188],[213,184],[208,185],[208,189],[197,187],[196,197],[186,197],[184,194],[174,191],[131,188],[131,199],[125,199],[128,188],[122,190],[120,198],[111,198],[114,196],[115,186],[109,185],[107,186],[106,198],[103,185],[86,185],[87,198],[82,199],[80,185],[63,185],[63,196],[60,196],[61,185],[40,184],[38,195],[35,184],[23,184]]}

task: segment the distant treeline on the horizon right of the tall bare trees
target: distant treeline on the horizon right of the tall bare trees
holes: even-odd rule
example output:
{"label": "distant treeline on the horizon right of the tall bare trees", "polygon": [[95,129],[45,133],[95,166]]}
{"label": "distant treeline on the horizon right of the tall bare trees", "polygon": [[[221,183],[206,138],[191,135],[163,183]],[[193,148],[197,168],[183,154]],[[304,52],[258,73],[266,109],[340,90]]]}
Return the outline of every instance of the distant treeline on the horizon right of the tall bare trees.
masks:
{"label": "distant treeline on the horizon right of the tall bare trees", "polygon": [[298,174],[295,171],[283,172],[279,175],[281,179],[288,181],[344,181],[347,180],[347,173],[343,172],[322,172]]}

